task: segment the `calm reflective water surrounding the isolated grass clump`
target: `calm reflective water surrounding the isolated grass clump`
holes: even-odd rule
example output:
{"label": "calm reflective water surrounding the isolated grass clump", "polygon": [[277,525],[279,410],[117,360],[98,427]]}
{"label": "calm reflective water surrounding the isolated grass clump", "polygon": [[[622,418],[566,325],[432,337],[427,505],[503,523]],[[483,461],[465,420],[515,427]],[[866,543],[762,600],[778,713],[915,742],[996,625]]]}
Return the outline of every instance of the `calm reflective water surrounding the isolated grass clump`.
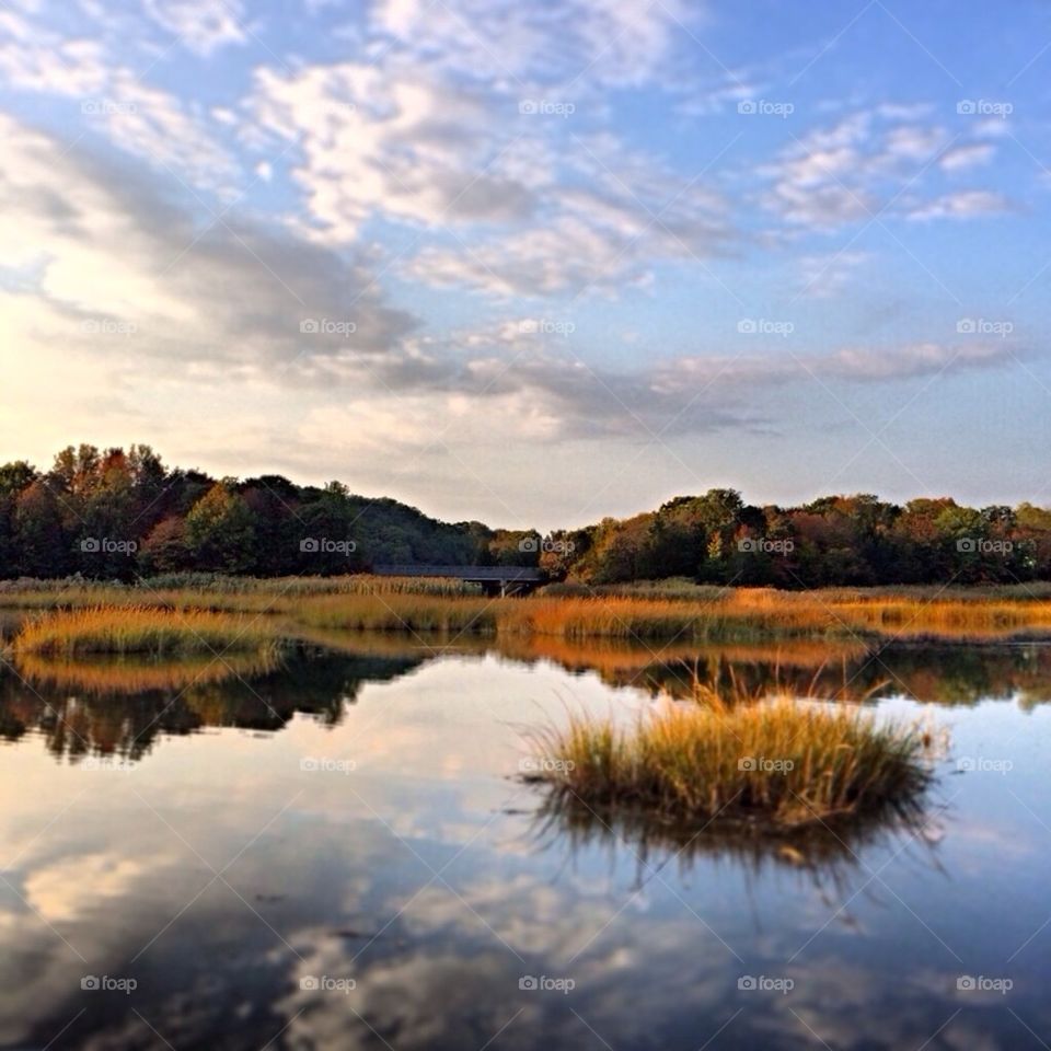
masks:
{"label": "calm reflective water surrounding the isolated grass clump", "polygon": [[[334,643],[0,671],[0,1048],[1051,1042],[1051,647]],[[925,820],[794,855],[541,813],[528,728],[691,657],[948,727]]]}

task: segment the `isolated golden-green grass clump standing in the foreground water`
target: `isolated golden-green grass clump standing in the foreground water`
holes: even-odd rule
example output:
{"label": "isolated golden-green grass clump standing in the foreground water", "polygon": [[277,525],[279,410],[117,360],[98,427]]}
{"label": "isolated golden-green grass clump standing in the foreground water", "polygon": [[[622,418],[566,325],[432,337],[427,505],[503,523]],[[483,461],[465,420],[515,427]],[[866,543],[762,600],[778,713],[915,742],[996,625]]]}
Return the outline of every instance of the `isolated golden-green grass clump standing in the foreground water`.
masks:
{"label": "isolated golden-green grass clump standing in the foreground water", "polygon": [[932,778],[927,734],[789,696],[669,704],[630,727],[574,716],[539,743],[535,778],[570,808],[720,829],[904,816]]}

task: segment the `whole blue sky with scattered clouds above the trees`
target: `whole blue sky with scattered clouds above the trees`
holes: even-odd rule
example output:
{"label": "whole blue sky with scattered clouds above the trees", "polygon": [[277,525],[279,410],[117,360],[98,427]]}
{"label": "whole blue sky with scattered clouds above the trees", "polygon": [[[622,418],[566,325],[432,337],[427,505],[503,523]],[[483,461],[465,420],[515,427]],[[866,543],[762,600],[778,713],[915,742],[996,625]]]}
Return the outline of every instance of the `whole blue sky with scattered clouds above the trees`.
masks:
{"label": "whole blue sky with scattered clouds above the trees", "polygon": [[4,0],[0,461],[1051,504],[1051,5]]}

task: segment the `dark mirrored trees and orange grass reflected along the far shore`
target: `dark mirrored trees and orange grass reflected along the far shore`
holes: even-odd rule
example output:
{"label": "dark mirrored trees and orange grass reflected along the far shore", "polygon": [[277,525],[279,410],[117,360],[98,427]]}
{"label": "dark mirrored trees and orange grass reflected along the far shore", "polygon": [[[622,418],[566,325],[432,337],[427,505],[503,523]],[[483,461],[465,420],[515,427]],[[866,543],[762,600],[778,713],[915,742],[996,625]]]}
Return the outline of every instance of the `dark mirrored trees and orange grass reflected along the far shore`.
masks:
{"label": "dark mirrored trees and orange grass reflected along the far shore", "polygon": [[386,682],[450,656],[482,660],[492,652],[650,696],[686,696],[698,677],[726,695],[782,690],[944,705],[995,698],[1027,711],[1051,700],[1051,645],[1038,643],[866,647],[800,640],[655,650],[552,639],[420,645],[354,633],[325,633],[314,643],[280,663],[244,655],[183,661],[20,657],[16,665],[0,663],[0,736],[16,740],[34,730],[57,757],[97,752],[139,760],[165,736],[208,727],[280,730],[297,712],[334,725],[368,682]]}

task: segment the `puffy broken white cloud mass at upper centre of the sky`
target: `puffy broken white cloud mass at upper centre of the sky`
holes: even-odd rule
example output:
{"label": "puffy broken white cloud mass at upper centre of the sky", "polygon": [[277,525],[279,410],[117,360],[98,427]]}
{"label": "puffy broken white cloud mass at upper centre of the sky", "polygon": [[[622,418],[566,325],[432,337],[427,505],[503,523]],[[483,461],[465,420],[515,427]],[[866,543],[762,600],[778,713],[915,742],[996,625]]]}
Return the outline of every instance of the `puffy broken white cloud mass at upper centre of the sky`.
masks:
{"label": "puffy broken white cloud mass at upper centre of the sky", "polygon": [[[734,239],[726,203],[702,181],[608,131],[520,113],[506,93],[450,92],[430,71],[259,70],[252,112],[299,152],[312,236],[353,242],[372,217],[423,227],[438,243],[400,269],[438,287],[612,292]],[[438,238],[446,229],[453,236]]]}

